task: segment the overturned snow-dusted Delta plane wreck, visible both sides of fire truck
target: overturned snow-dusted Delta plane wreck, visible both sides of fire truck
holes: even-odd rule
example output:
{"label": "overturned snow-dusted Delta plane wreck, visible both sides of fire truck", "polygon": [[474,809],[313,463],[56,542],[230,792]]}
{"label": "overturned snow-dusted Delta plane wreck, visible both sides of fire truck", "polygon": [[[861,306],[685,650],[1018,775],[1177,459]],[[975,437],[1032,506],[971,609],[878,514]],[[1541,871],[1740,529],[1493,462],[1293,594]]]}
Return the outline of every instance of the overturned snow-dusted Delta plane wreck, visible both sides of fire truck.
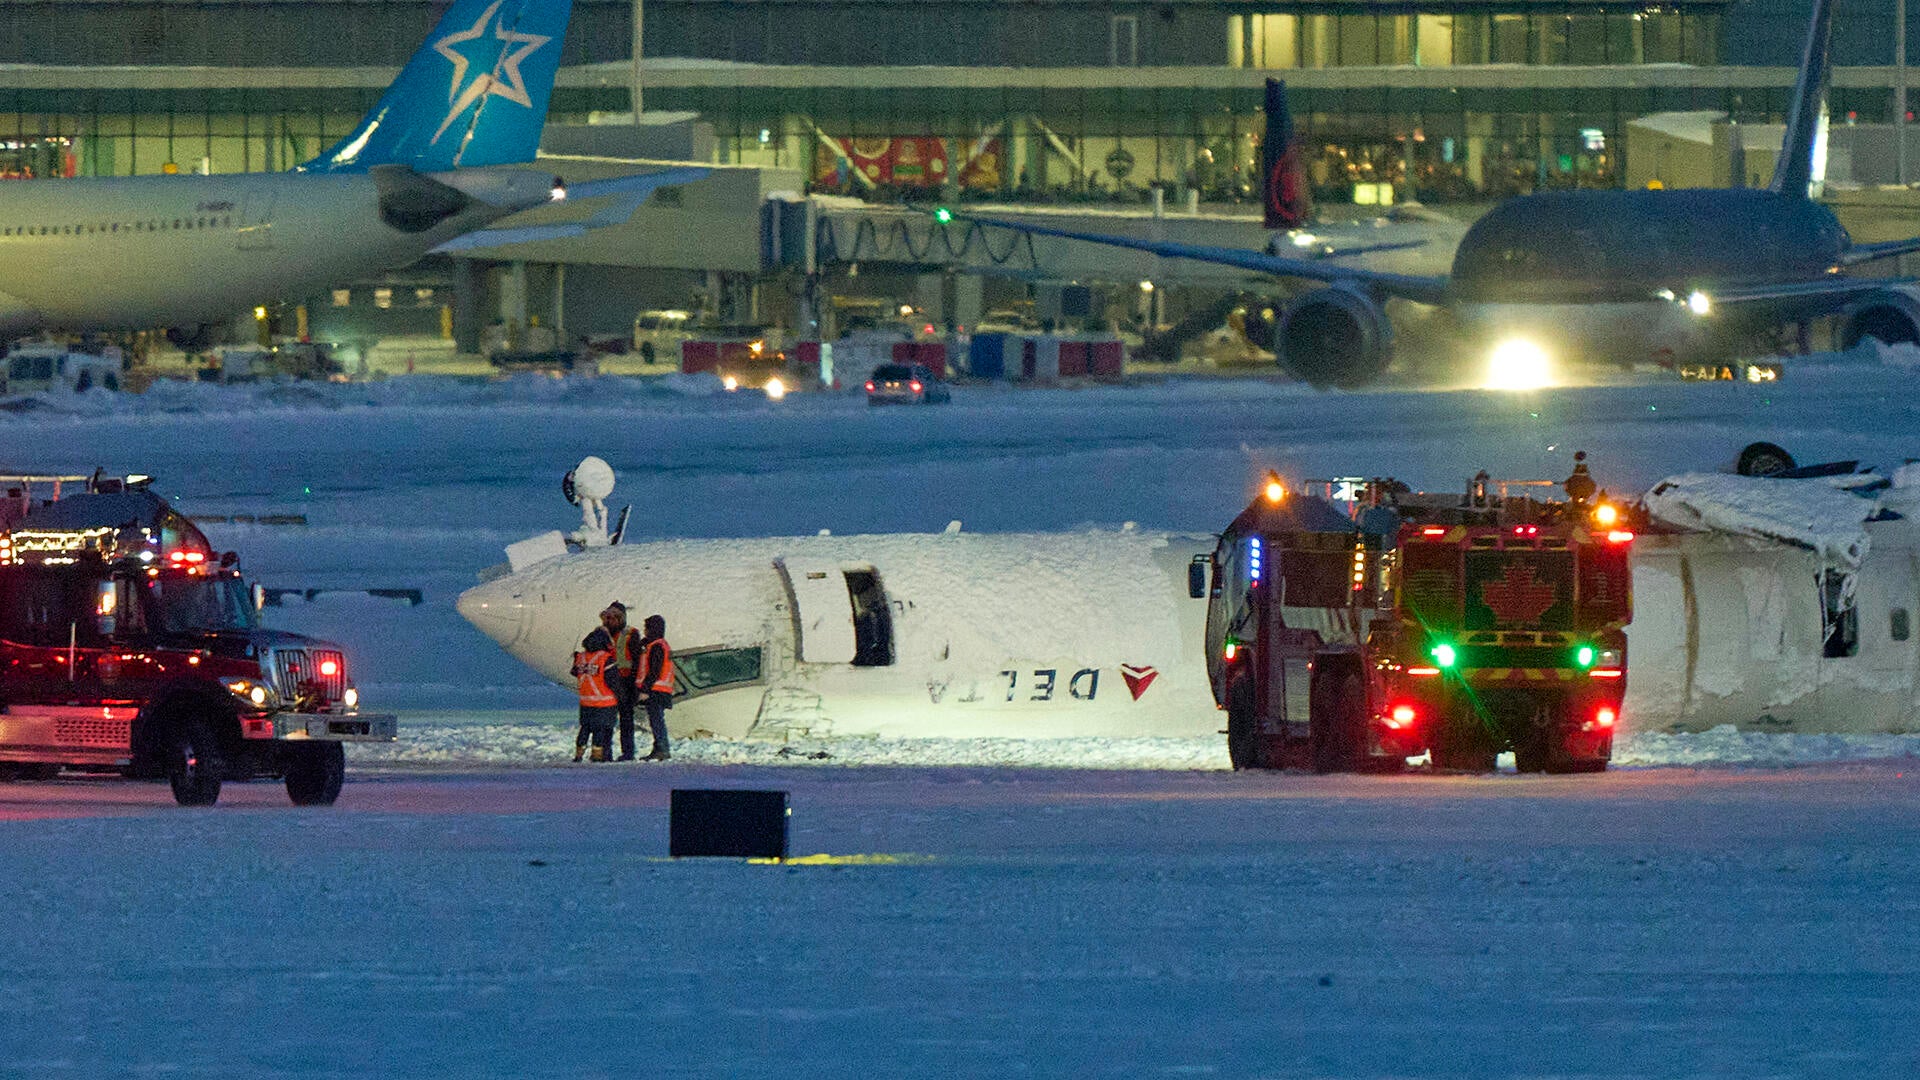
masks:
{"label": "overturned snow-dusted Delta plane wreck, visible both sides of fire truck", "polygon": [[[1920,465],[1655,484],[1634,542],[1624,730],[1920,730]],[[1210,736],[1212,536],[789,536],[620,544],[612,471],[570,492],[582,530],[507,550],[459,598],[468,623],[570,686],[609,600],[660,613],[676,734],[720,738]],[[1791,473],[1789,473],[1791,477]]]}

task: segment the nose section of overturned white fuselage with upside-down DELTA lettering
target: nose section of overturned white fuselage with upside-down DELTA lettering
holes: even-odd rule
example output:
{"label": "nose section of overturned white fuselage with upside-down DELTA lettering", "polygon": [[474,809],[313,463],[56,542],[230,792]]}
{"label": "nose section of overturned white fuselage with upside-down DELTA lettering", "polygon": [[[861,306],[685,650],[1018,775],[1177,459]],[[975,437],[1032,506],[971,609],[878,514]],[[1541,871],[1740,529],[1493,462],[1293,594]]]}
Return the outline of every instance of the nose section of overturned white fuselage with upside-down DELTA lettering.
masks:
{"label": "nose section of overturned white fuselage with upside-down DELTA lettering", "polygon": [[[607,601],[636,623],[664,615],[687,684],[668,713],[680,736],[1210,736],[1221,721],[1187,563],[1212,546],[1142,532],[672,540],[559,555],[467,590],[459,611],[563,686]],[[741,678],[703,684],[707,671]]]}

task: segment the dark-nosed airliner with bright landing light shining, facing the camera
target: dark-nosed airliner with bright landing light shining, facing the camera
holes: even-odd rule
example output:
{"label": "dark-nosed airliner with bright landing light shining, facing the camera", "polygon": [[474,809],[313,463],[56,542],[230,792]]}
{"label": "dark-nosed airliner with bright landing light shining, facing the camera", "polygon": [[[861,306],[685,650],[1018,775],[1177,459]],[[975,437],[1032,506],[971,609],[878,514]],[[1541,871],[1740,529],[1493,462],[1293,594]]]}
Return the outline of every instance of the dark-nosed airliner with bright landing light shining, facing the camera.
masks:
{"label": "dark-nosed airliner with bright landing light shining, facing the camera", "polygon": [[[1766,334],[1839,317],[1864,336],[1920,340],[1920,284],[1849,279],[1847,267],[1920,250],[1920,238],[1855,244],[1811,198],[1824,171],[1834,0],[1814,0],[1786,138],[1764,190],[1555,190],[1503,202],[1453,252],[1452,273],[1411,275],[1292,258],[1075,233],[977,217],[1256,273],[1325,282],[1284,306],[1283,369],[1313,386],[1363,386],[1394,359],[1386,300],[1434,306],[1503,384],[1546,382],[1565,361],[1701,361]],[[1805,340],[1805,332],[1799,334]]]}

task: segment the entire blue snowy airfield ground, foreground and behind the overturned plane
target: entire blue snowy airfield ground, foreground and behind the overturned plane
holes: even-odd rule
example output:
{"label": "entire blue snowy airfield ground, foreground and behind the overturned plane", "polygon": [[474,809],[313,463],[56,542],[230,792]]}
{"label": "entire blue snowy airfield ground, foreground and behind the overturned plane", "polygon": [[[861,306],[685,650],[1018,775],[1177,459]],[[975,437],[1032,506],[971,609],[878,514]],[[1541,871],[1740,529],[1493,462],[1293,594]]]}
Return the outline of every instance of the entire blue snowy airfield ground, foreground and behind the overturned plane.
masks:
{"label": "entire blue snowy airfield ground, foreground and behind the overturned plane", "polygon": [[[568,694],[453,598],[570,525],[586,454],[636,538],[1204,532],[1269,465],[1438,488],[1584,448],[1638,492],[1757,438],[1897,463],[1916,407],[1910,371],[1809,365],[1532,396],[1175,380],[870,411],[409,379],[10,409],[8,469],[300,513],[209,532],[267,586],[426,601],[271,609],[401,711],[338,807],[0,786],[0,1076],[1910,1076],[1914,738],[1642,734],[1571,778],[1233,774],[1219,740],[553,767]],[[839,859],[668,863],[674,786],[791,790],[795,851]]]}

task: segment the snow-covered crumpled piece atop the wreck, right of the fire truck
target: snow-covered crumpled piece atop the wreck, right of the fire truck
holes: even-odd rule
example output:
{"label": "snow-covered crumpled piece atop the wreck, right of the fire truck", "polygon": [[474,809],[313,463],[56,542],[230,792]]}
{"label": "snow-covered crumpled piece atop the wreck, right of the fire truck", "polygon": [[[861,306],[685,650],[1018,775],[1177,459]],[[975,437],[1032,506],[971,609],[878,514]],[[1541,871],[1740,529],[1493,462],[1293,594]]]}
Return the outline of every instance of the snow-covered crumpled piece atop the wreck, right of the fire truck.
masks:
{"label": "snow-covered crumpled piece atop the wreck, right of the fire truck", "polygon": [[1667,525],[1776,540],[1814,552],[1832,565],[1859,569],[1868,548],[1864,521],[1878,503],[1843,490],[1843,482],[1857,479],[1680,473],[1655,484],[1644,502]]}

